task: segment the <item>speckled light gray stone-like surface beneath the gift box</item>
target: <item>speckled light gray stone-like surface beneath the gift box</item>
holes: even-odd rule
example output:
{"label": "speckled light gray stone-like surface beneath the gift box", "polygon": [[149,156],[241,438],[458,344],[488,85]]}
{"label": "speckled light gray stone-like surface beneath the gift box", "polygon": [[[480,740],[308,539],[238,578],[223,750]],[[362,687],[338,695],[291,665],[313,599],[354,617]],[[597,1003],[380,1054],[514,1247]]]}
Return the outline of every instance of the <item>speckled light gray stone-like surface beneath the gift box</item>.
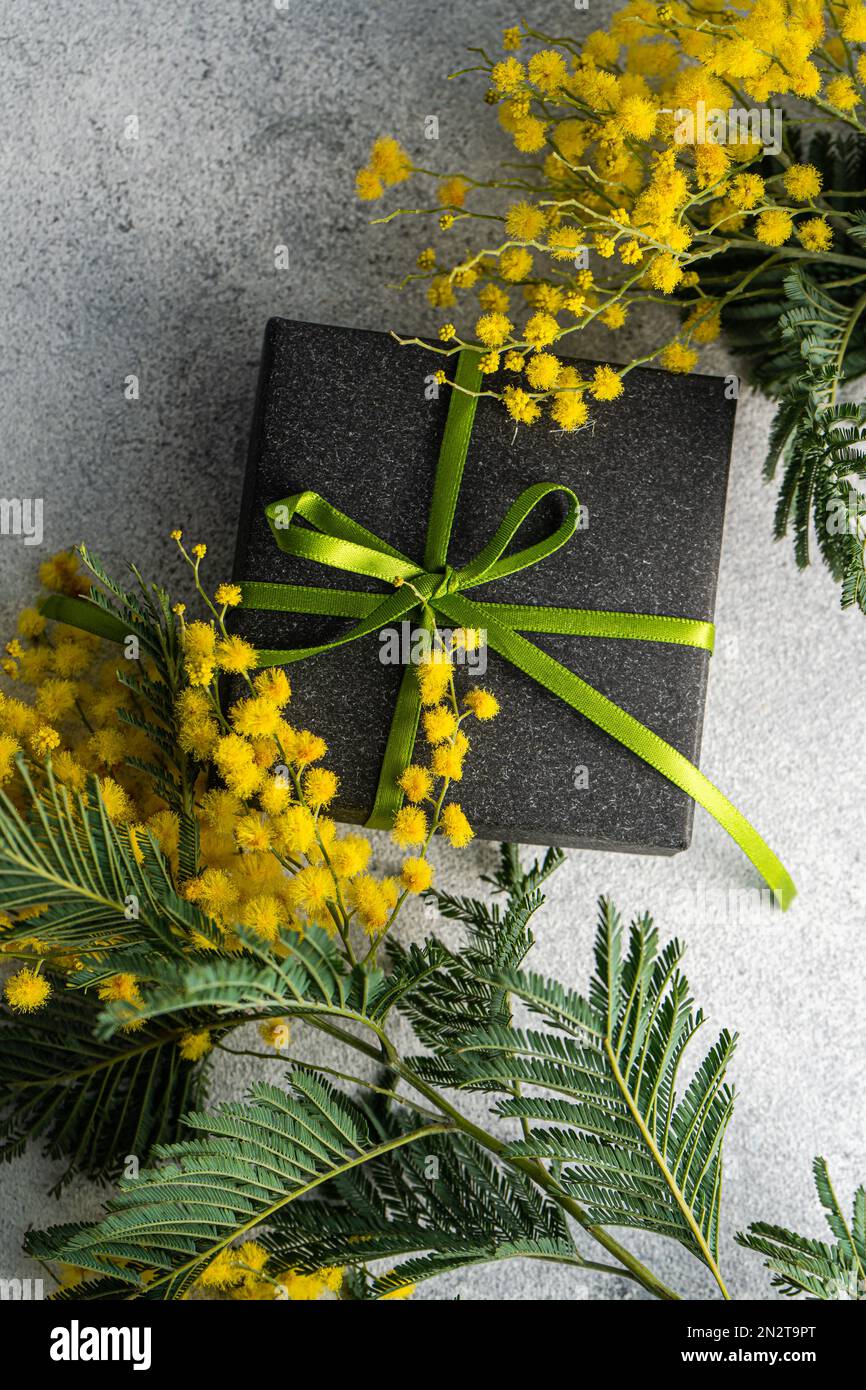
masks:
{"label": "speckled light gray stone-like surface beneath the gift box", "polygon": [[[581,32],[609,14],[607,0],[589,3],[588,13],[569,0],[527,8],[550,32]],[[167,531],[186,524],[209,541],[211,573],[228,570],[265,320],[430,328],[414,302],[382,289],[407,267],[417,225],[368,229],[353,170],[382,128],[442,167],[484,170],[505,153],[480,88],[445,75],[466,44],[492,47],[514,18],[505,0],[7,7],[1,491],[44,498],[46,548],[88,538],[113,563],[135,556],[164,571]],[[424,140],[428,114],[439,117],[438,146]],[[278,245],[289,247],[284,271]],[[649,342],[649,329],[628,341]],[[617,346],[599,338],[587,352]],[[706,370],[734,368],[717,349]],[[128,374],[140,378],[135,403],[124,399]],[[741,1298],[767,1297],[769,1284],[733,1233],[762,1218],[819,1234],[812,1155],[827,1155],[845,1195],[866,1168],[866,628],[837,610],[823,573],[798,577],[788,549],[769,542],[773,493],[759,477],[769,414],[752,395],[741,400],[703,767],[778,849],[801,897],[785,917],[751,908],[749,866],[698,812],[692,848],[674,859],[574,852],[537,948],[538,966],[584,981],[599,891],[627,910],[649,906],[688,940],[712,1024],[742,1034],[723,1229]],[[39,559],[0,538],[7,626]],[[466,890],[491,863],[478,845],[448,856],[441,880]],[[239,1061],[220,1090],[246,1080]],[[25,1273],[25,1226],[97,1211],[95,1193],[47,1200],[50,1172],[36,1155],[0,1170],[4,1275]],[[631,1243],[687,1295],[712,1294],[678,1247]],[[457,1293],[628,1297],[630,1286],[509,1264],[428,1284],[423,1297]]]}

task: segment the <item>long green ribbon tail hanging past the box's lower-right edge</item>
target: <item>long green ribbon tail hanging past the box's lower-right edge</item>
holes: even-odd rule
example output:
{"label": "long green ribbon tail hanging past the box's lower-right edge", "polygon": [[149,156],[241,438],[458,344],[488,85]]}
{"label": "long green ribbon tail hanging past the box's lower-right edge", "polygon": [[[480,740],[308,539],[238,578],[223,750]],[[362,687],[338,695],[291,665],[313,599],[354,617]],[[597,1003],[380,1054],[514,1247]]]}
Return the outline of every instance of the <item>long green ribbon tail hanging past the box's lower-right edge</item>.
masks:
{"label": "long green ribbon tail hanging past the box's lower-right edge", "polygon": [[449,619],[464,627],[485,628],[488,644],[512,666],[557,695],[578,714],[584,714],[709,810],[755,865],[778,906],[783,910],[790,906],[796,897],[796,888],[785,866],[734,803],[688,758],[525,637],[499,623],[487,605],[453,595],[441,599],[438,606]]}

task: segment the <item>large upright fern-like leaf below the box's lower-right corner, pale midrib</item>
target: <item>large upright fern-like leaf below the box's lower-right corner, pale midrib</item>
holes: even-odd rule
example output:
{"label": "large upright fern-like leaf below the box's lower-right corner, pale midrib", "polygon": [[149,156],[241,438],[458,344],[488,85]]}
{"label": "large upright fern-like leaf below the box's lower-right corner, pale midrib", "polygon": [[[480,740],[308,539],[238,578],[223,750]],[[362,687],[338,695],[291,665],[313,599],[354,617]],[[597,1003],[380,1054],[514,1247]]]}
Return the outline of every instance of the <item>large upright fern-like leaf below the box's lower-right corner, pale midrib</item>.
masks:
{"label": "large upright fern-like leaf below the box's lower-right corner, pale midrib", "polygon": [[721,1143],[733,1109],[724,1077],[735,1040],[721,1033],[677,1093],[683,1055],[702,1023],[680,960],[678,944],[660,948],[648,917],[632,923],[624,955],[620,919],[602,901],[589,998],[500,972],[503,991],[550,1031],[492,1020],[453,1040],[443,1061],[452,1084],[505,1097],[498,1112],[525,1125],[507,1154],[555,1159],[591,1220],[671,1236],[720,1280]]}

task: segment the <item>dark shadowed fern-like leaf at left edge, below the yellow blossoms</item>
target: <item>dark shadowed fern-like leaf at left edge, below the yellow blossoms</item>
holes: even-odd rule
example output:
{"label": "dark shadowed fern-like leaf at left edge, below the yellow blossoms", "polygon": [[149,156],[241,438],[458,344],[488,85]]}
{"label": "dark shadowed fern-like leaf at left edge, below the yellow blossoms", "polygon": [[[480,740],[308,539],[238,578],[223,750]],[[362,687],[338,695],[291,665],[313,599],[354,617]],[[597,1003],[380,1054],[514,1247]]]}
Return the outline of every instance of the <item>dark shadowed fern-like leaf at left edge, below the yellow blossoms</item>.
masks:
{"label": "dark shadowed fern-like leaf at left edge, below the yellow blossoms", "polygon": [[[190,1011],[171,1026],[93,1037],[99,1005],[56,991],[26,1022],[0,1013],[0,1158],[42,1143],[75,1175],[114,1180],[126,1155],[143,1159],[179,1136],[179,1116],[204,1101],[204,1066],[182,1061],[178,1037],[203,1019]],[[206,1022],[206,1020],[204,1020]]]}

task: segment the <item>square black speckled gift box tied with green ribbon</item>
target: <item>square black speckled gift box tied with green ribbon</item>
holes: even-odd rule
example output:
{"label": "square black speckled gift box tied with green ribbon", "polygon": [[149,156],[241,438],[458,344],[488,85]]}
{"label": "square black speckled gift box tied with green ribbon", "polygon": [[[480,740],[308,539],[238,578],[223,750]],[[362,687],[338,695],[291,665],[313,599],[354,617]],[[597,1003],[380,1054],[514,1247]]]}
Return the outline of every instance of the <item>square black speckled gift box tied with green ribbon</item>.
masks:
{"label": "square black speckled gift box tied with green ribbon", "polygon": [[[442,363],[385,334],[270,321],[236,580],[388,592],[277,548],[264,507],[304,489],[421,562],[450,393],[448,386],[435,393]],[[453,368],[455,360],[443,364]],[[471,560],[532,482],[573,488],[585,528],[542,563],[471,589],[468,598],[712,621],[735,404],[719,377],[635,370],[624,385],[617,402],[591,403],[592,425],[574,434],[546,421],[516,428],[499,402],[480,399],[449,563]],[[559,498],[545,499],[516,545],[548,535],[562,507]],[[259,648],[282,649],[331,641],[349,626],[240,609],[235,630]],[[705,651],[530,637],[698,762]],[[402,666],[381,660],[382,651],[374,634],[289,667],[291,720],[327,739],[328,766],[341,777],[332,810],[345,821],[363,823],[370,815],[403,674]],[[688,847],[689,796],[495,652],[487,662],[481,684],[496,694],[502,713],[474,726],[463,781],[455,787],[480,837],[648,853]],[[459,691],[471,678],[470,667],[459,671]],[[421,746],[417,760],[424,760]]]}

